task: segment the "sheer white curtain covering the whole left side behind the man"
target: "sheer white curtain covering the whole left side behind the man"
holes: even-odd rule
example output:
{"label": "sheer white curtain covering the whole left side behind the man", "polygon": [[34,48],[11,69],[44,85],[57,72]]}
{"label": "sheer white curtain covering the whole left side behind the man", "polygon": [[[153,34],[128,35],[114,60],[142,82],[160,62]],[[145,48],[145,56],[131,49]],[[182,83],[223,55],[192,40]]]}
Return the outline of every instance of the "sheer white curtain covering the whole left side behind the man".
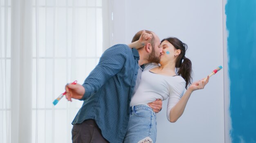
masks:
{"label": "sheer white curtain covering the whole left side behind the man", "polygon": [[0,143],[70,143],[82,102],[52,102],[67,82],[82,84],[110,45],[109,2],[0,4]]}

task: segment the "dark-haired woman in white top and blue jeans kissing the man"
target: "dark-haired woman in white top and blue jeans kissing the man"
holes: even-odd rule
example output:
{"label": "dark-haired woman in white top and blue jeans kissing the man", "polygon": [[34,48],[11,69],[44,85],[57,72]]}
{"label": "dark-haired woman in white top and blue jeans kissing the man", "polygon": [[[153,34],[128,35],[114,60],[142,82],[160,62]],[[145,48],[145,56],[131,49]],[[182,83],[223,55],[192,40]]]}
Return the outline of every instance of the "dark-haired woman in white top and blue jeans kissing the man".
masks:
{"label": "dark-haired woman in white top and blue jeans kissing the man", "polygon": [[[151,38],[151,34],[143,31],[140,39],[129,46],[138,49]],[[200,80],[188,88],[192,80],[192,65],[185,57],[187,45],[175,37],[169,37],[161,41],[161,48],[163,52],[160,65],[153,63],[146,65],[139,87],[131,99],[130,118],[124,143],[155,143],[156,114],[147,104],[156,99],[168,98],[167,119],[175,122],[184,112],[191,93],[204,88],[209,80],[209,77],[206,81]],[[184,93],[185,88],[187,90]]]}

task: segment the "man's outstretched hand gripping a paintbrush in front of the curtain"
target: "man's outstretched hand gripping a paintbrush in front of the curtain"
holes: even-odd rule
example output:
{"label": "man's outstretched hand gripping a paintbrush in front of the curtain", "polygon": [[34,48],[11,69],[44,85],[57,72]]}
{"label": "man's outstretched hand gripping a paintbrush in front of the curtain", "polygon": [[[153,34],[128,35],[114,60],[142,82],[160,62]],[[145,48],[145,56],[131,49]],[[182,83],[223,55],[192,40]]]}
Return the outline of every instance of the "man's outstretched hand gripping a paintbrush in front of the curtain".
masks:
{"label": "man's outstretched hand gripping a paintbrush in front of the curtain", "polygon": [[72,102],[72,98],[74,99],[81,99],[83,98],[83,95],[85,93],[85,89],[82,85],[76,84],[67,84],[65,87],[66,90],[66,99],[70,102]]}

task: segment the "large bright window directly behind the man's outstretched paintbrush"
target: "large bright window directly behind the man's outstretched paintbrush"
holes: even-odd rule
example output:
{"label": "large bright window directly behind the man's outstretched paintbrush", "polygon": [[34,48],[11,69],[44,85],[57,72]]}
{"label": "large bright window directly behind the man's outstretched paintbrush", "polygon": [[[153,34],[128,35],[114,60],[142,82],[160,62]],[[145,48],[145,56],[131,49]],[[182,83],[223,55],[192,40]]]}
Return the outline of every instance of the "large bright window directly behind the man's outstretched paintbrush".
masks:
{"label": "large bright window directly behind the man's outstretched paintbrush", "polygon": [[71,142],[83,102],[52,102],[65,83],[82,84],[101,54],[101,0],[33,0],[32,142]]}

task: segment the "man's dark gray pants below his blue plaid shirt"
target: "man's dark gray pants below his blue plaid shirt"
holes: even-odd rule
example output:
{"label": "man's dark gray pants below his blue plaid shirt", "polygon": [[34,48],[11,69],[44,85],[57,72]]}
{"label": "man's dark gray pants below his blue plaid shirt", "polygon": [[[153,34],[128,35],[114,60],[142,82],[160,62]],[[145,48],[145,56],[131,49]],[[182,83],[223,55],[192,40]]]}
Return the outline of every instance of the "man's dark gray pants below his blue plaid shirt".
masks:
{"label": "man's dark gray pants below his blue plaid shirt", "polygon": [[93,119],[74,124],[72,128],[73,143],[109,143],[102,137],[101,130]]}

